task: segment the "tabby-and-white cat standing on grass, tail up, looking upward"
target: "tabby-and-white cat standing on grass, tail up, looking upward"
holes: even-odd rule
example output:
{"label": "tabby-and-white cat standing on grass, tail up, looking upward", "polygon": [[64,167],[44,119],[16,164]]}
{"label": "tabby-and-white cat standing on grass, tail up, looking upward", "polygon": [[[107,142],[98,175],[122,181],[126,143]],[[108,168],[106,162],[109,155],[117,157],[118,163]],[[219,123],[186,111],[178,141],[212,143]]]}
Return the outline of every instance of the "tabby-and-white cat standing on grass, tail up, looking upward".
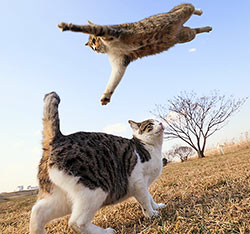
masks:
{"label": "tabby-and-white cat standing on grass, tail up, looking upward", "polygon": [[63,135],[59,102],[55,92],[45,95],[39,195],[31,212],[30,233],[44,234],[46,223],[68,214],[69,226],[76,232],[115,233],[91,220],[101,207],[131,196],[146,217],[156,216],[165,205],[153,200],[148,187],[162,170],[162,123],[130,120],[132,139],[94,132]]}

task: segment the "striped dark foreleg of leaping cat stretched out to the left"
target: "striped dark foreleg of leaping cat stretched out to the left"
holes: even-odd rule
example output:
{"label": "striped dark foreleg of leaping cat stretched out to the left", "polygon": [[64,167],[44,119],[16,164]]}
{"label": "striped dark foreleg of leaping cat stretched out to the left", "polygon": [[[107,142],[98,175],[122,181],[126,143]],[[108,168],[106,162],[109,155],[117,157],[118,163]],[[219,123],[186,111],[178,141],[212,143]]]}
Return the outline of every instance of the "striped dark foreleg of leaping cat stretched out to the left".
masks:
{"label": "striped dark foreleg of leaping cat stretched out to the left", "polygon": [[114,25],[97,25],[93,24],[89,21],[87,25],[76,25],[76,24],[67,24],[67,23],[60,23],[57,25],[62,31],[72,31],[72,32],[82,32],[87,34],[92,34],[95,36],[111,36],[118,38],[121,33],[125,31],[120,27],[115,27]]}

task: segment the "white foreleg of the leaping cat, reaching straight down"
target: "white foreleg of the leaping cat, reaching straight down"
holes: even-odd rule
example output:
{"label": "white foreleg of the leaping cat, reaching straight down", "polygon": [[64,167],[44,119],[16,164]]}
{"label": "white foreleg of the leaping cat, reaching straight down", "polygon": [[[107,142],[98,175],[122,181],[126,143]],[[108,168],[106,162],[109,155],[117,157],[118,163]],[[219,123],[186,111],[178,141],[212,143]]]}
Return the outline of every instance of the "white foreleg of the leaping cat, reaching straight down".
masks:
{"label": "white foreleg of the leaping cat, reaching straight down", "polygon": [[106,105],[110,102],[111,96],[115,91],[115,88],[120,83],[128,64],[130,63],[130,59],[128,56],[117,56],[113,54],[109,54],[109,60],[112,66],[112,72],[105,89],[101,97],[101,104]]}

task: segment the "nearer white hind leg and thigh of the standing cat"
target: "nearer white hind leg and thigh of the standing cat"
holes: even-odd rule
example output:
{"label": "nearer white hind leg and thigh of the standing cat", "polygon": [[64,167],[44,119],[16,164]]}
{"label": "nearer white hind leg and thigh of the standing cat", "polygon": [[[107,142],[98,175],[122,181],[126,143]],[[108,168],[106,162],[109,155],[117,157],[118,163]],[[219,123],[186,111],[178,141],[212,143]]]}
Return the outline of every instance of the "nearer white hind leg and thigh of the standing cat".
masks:
{"label": "nearer white hind leg and thigh of the standing cat", "polygon": [[[72,202],[69,226],[76,232],[84,234],[113,234],[111,228],[103,229],[91,223],[97,210],[107,198],[108,193],[101,188],[89,189],[79,183],[79,178],[66,174],[57,168],[49,170],[50,179],[67,193]],[[62,201],[60,201],[62,202]]]}

